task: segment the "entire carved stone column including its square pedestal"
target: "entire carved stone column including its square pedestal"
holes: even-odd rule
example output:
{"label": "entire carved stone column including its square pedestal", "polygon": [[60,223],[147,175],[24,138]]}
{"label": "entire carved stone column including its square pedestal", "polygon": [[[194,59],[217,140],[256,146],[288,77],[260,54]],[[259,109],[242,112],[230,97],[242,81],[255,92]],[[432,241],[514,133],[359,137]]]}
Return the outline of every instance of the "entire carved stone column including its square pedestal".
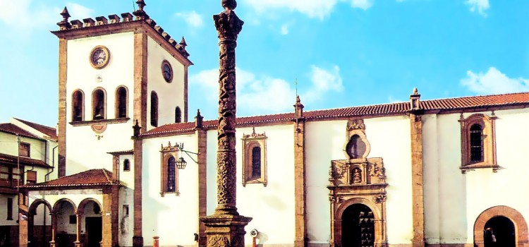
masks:
{"label": "entire carved stone column including its square pedestal", "polygon": [[217,208],[202,217],[207,246],[243,247],[244,227],[252,220],[236,207],[236,73],[235,47],[244,22],[233,11],[235,0],[222,0],[224,11],[213,16],[219,33],[219,126],[217,129]]}

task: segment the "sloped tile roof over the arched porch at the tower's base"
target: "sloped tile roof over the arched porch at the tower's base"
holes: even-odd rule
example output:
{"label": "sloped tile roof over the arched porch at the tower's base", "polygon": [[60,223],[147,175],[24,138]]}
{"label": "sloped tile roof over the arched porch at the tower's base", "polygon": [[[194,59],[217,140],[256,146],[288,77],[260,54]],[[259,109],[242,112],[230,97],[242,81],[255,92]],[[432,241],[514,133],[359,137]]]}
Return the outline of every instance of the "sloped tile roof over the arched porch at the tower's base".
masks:
{"label": "sloped tile roof over the arched porch at the tower's base", "polygon": [[108,186],[112,181],[112,172],[107,169],[90,169],[87,171],[63,176],[59,179],[44,183],[28,183],[22,188],[54,188],[54,187],[77,187],[77,186]]}

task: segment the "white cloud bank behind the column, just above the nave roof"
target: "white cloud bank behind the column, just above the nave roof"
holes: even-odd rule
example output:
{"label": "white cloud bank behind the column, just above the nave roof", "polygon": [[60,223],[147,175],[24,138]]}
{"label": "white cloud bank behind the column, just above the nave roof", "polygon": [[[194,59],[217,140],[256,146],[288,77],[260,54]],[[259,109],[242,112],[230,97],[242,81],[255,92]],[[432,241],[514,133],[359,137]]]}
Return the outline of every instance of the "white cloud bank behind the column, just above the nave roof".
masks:
{"label": "white cloud bank behind the column, just above the nave roof", "polygon": [[[293,82],[272,76],[255,76],[250,71],[241,68],[237,70],[237,111],[241,116],[256,114],[274,114],[292,110],[295,102],[296,88]],[[214,68],[200,71],[190,76],[192,85],[197,85],[208,102],[217,102],[219,91],[219,70]],[[311,84],[303,87],[301,94],[304,104],[322,100],[324,93],[333,90],[343,90],[339,67],[333,66],[325,70],[317,66],[311,67]]]}

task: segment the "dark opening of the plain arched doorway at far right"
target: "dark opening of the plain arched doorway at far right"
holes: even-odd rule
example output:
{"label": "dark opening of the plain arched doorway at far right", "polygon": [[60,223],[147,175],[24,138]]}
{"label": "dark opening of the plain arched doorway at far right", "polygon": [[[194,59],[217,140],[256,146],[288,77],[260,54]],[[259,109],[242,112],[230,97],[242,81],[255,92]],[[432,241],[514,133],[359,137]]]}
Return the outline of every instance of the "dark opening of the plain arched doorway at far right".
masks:
{"label": "dark opening of the plain arched doorway at far right", "polygon": [[514,223],[504,216],[492,217],[483,229],[485,247],[516,247]]}

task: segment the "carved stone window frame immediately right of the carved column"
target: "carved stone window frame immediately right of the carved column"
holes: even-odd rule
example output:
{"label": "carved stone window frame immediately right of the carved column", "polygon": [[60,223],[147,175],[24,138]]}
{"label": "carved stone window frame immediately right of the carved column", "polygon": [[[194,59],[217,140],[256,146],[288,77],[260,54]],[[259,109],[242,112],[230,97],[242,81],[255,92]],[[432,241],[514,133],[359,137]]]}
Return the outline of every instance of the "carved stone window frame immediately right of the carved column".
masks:
{"label": "carved stone window frame immediately right of the carved column", "polygon": [[[262,183],[263,186],[268,184],[267,175],[267,135],[266,133],[243,134],[243,186],[247,183]],[[254,175],[253,150],[255,147],[260,148],[260,176]]]}

